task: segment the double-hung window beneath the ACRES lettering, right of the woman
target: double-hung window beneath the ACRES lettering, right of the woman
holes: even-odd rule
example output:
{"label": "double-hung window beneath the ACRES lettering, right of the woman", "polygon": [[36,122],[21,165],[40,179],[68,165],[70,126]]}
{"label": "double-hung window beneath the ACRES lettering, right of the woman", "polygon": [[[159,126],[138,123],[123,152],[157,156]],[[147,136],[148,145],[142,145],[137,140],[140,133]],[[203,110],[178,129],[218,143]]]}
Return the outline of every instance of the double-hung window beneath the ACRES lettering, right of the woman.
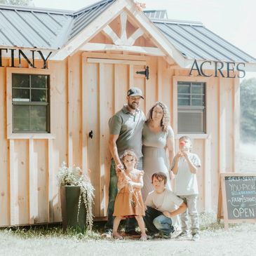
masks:
{"label": "double-hung window beneath the ACRES lettering, right of the woman", "polygon": [[206,83],[177,83],[178,133],[206,133]]}

